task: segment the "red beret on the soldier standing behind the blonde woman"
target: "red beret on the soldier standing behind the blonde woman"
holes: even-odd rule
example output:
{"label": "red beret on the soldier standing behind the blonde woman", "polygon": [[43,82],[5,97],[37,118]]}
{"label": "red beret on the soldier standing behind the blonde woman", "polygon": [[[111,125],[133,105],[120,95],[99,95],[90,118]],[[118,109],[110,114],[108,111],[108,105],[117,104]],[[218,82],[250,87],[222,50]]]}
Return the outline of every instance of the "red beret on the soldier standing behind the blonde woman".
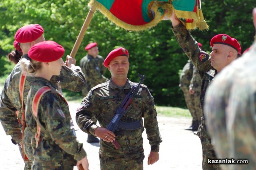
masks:
{"label": "red beret on the soldier standing behind the blonde woman", "polygon": [[39,24],[23,26],[15,34],[15,40],[19,43],[29,43],[43,35],[44,29]]}

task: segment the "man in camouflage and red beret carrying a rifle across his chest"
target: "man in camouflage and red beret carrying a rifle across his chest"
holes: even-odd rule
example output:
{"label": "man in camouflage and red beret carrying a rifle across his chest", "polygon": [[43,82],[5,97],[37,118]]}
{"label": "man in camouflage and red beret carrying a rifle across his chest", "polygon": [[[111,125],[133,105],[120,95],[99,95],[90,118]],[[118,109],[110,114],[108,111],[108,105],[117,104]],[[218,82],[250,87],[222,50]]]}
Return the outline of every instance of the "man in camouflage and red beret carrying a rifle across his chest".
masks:
{"label": "man in camouflage and red beret carrying a rifle across his chest", "polygon": [[[148,164],[154,164],[159,159],[158,152],[162,138],[158,129],[156,107],[147,86],[143,84],[140,86],[131,108],[122,118],[122,121],[129,124],[136,123],[139,128],[120,129],[114,133],[106,129],[131,87],[137,85],[127,78],[128,57],[128,51],[122,47],[110,52],[104,61],[104,66],[111,72],[110,81],[93,87],[76,112],[76,122],[80,129],[100,138],[101,170],[143,170],[144,127],[151,145]],[[97,118],[101,127],[92,121],[93,117]],[[110,143],[114,140],[121,145],[119,150]]]}

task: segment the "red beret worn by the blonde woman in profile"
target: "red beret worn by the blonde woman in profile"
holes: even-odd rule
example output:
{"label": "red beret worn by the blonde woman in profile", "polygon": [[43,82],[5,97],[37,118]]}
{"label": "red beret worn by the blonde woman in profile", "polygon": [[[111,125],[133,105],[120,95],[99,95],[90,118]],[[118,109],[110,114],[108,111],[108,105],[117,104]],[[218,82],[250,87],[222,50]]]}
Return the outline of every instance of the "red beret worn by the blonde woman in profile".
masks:
{"label": "red beret worn by the blonde woman in profile", "polygon": [[52,62],[64,55],[64,48],[54,41],[43,41],[29,49],[29,58],[35,61]]}

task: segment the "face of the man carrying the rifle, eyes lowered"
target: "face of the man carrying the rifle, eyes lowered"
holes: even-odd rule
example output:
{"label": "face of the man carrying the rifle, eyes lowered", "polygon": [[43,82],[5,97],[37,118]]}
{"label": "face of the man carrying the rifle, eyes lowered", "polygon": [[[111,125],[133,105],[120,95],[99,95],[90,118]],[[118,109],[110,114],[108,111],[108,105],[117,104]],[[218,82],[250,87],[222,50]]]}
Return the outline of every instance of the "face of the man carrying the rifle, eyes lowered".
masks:
{"label": "face of the man carrying the rifle, eyes lowered", "polygon": [[127,56],[118,56],[111,60],[108,70],[111,72],[112,78],[127,78],[129,65]]}

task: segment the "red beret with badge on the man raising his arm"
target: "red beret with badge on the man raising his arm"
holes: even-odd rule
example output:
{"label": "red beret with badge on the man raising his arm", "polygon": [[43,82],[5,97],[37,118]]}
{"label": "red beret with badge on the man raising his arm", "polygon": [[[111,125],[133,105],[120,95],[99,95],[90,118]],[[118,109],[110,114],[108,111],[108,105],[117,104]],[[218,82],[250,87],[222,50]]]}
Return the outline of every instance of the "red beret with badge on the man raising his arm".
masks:
{"label": "red beret with badge on the man raising his arm", "polygon": [[241,55],[241,46],[235,38],[232,38],[226,34],[215,35],[214,37],[212,37],[211,46],[217,43],[231,46],[232,48],[236,49],[239,55]]}

